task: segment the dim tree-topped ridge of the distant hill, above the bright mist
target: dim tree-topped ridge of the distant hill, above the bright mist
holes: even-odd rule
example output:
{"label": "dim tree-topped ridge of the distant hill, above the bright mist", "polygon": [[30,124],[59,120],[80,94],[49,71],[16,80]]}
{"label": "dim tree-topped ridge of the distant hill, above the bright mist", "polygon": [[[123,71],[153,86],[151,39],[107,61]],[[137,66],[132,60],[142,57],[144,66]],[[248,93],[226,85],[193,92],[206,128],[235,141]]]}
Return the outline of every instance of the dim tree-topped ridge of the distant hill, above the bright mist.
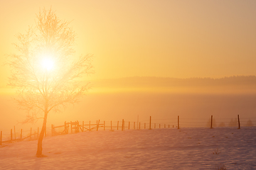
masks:
{"label": "dim tree-topped ridge of the distant hill, above the bright mist", "polygon": [[256,86],[255,76],[233,76],[219,79],[189,78],[176,79],[170,77],[125,77],[120,79],[98,80],[100,86]]}

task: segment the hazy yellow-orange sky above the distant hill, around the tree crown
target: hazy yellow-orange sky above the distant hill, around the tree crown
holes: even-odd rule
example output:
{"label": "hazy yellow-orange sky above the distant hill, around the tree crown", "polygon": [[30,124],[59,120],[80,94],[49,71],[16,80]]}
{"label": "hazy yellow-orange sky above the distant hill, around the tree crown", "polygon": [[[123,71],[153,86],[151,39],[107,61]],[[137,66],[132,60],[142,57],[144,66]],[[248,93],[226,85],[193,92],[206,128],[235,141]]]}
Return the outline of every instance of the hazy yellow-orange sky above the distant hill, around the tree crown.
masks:
{"label": "hazy yellow-orange sky above the distant hill, around the tree crown", "polygon": [[[256,1],[0,1],[0,62],[39,8],[72,21],[77,55],[95,55],[90,79],[256,74]],[[0,86],[8,67],[1,66]]]}

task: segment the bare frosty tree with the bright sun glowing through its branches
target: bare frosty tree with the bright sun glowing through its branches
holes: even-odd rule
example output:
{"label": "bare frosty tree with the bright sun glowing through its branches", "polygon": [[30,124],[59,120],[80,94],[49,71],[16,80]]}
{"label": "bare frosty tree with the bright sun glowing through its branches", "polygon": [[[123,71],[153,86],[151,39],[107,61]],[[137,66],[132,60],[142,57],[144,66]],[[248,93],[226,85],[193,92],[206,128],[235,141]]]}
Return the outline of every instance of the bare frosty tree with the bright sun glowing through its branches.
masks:
{"label": "bare frosty tree with the bright sun glowing through its branches", "polygon": [[9,55],[9,85],[17,89],[19,108],[28,112],[26,122],[39,115],[43,118],[37,157],[44,156],[42,142],[48,113],[77,103],[90,89],[82,78],[93,73],[92,55],[75,57],[75,33],[69,23],[60,20],[51,8],[43,8],[36,16],[36,26],[17,35],[17,54]]}

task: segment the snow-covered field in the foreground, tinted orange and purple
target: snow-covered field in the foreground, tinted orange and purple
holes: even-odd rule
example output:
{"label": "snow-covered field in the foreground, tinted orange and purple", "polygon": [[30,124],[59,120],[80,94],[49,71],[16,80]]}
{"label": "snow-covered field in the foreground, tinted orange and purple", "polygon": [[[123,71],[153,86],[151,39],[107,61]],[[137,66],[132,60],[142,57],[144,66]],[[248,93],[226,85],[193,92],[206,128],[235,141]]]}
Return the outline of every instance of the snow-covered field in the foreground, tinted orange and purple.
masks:
{"label": "snow-covered field in the foreground, tinted orange and purple", "polygon": [[256,128],[80,132],[0,147],[0,169],[256,169]]}

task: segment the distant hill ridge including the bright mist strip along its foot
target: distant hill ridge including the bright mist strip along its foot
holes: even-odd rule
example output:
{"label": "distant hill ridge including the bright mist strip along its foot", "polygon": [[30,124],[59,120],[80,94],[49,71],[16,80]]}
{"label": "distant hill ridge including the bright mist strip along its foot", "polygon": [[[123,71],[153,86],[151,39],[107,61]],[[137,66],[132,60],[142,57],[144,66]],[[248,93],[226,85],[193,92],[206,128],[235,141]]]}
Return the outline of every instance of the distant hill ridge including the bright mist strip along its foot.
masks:
{"label": "distant hill ridge including the bright mist strip along its foot", "polygon": [[255,76],[233,76],[220,79],[169,77],[125,77],[92,81],[102,91],[155,91],[174,93],[255,93]]}

